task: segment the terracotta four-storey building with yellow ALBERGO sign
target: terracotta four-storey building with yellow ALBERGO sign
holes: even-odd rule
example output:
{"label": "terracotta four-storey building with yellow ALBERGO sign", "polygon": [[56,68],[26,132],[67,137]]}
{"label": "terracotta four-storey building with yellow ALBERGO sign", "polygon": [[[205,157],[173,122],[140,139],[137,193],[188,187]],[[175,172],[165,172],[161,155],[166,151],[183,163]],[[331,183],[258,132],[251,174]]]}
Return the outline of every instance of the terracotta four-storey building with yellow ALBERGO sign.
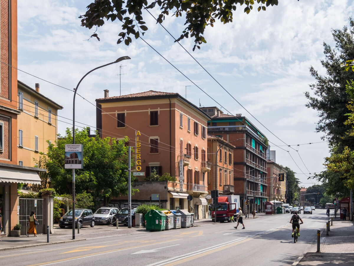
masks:
{"label": "terracotta four-storey building with yellow ALBERGO sign", "polygon": [[[104,98],[96,99],[96,127],[102,129],[101,137],[128,136],[136,151],[135,172],[144,172],[133,184],[139,193],[132,195],[132,207],[156,204],[151,197],[159,194],[164,208],[186,209],[195,218],[205,218],[211,167],[206,157],[209,116],[178,93],[150,90],[113,97],[108,90],[104,93]],[[167,173],[176,181],[149,181],[154,173]],[[113,199],[114,204],[124,207],[127,199]]]}

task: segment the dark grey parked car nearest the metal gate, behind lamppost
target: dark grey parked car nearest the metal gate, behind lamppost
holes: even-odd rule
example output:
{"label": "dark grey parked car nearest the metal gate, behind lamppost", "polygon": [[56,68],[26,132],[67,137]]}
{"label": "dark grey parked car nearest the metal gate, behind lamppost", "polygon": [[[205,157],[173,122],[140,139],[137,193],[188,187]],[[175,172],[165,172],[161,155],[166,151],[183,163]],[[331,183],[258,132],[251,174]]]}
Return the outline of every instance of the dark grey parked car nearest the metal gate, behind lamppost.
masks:
{"label": "dark grey parked car nearest the metal gate, behind lamppost", "polygon": [[[65,226],[73,226],[73,210],[67,211],[59,219],[59,227],[64,228]],[[91,227],[95,226],[95,217],[93,216],[92,210],[89,209],[75,209],[75,228],[79,226],[81,228],[84,225],[89,225]]]}

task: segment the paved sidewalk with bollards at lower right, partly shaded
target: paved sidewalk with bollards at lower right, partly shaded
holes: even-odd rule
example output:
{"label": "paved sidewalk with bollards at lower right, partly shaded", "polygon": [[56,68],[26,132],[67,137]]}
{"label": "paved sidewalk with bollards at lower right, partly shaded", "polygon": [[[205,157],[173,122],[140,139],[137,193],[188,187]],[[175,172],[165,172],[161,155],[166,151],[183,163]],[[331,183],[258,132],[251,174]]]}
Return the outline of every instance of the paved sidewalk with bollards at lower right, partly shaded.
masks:
{"label": "paved sidewalk with bollards at lower right, partly shaded", "polygon": [[321,230],[320,252],[317,243],[294,265],[354,265],[354,223],[333,218],[329,235]]}

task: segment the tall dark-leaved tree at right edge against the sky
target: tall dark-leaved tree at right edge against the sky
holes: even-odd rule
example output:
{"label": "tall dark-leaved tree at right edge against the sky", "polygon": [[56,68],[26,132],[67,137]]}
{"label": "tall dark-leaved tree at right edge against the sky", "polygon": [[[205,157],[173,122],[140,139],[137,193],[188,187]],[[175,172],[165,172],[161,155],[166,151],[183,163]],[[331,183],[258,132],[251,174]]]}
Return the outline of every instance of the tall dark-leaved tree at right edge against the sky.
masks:
{"label": "tall dark-leaved tree at right edge against the sky", "polygon": [[321,60],[321,64],[326,69],[326,75],[322,76],[314,67],[310,67],[310,73],[316,79],[310,85],[315,96],[310,92],[306,92],[305,96],[309,100],[306,106],[319,112],[316,131],[325,133],[322,139],[329,140],[330,145],[337,146],[337,152],[341,152],[344,146],[354,148],[354,139],[345,139],[350,126],[344,124],[347,120],[345,114],[348,113],[346,105],[350,101],[346,84],[354,75],[352,71],[344,71],[342,66],[348,59],[354,58],[353,18],[349,18],[349,27],[333,29],[332,35],[334,48],[323,43],[325,59]]}

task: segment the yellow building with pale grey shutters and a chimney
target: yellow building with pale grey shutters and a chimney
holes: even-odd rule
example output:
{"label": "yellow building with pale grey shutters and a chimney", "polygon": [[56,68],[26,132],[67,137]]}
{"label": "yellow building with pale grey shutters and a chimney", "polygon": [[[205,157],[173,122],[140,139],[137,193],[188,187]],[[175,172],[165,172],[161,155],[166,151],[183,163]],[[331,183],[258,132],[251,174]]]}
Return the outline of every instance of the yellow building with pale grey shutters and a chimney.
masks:
{"label": "yellow building with pale grey shutters and a chimney", "polygon": [[[46,154],[49,140],[55,143],[58,134],[57,112],[61,105],[39,93],[39,83],[35,89],[21,81],[17,82],[18,110],[17,116],[17,158],[18,164],[35,166],[40,152]],[[47,187],[47,184],[42,184]]]}

